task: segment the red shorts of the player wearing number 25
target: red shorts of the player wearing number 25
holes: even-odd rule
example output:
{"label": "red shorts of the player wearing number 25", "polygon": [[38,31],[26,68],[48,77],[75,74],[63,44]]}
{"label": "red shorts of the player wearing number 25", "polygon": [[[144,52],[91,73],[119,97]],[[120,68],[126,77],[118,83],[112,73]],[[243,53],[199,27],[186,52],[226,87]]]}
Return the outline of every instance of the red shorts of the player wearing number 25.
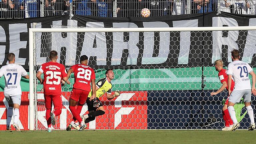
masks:
{"label": "red shorts of the player wearing number 25", "polygon": [[44,102],[46,109],[51,109],[52,103],[54,105],[54,109],[62,109],[61,95],[44,95]]}

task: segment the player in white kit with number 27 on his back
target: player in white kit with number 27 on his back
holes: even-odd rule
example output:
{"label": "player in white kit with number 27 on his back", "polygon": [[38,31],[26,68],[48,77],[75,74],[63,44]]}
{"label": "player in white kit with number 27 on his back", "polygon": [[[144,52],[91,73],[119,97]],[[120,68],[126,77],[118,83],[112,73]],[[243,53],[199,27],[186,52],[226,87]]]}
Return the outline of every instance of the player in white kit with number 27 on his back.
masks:
{"label": "player in white kit with number 27 on his back", "polygon": [[[8,102],[7,109],[7,130],[11,130],[11,119],[13,115],[13,127],[16,131],[20,131],[18,126],[18,121],[20,117],[20,103],[21,103],[21,87],[20,87],[20,79],[23,76],[26,79],[29,79],[29,75],[26,70],[15,63],[15,55],[14,53],[8,53],[7,59],[9,64],[2,66],[0,69],[0,77],[5,77],[5,87],[4,87],[4,96]],[[13,112],[14,108],[14,112]]]}

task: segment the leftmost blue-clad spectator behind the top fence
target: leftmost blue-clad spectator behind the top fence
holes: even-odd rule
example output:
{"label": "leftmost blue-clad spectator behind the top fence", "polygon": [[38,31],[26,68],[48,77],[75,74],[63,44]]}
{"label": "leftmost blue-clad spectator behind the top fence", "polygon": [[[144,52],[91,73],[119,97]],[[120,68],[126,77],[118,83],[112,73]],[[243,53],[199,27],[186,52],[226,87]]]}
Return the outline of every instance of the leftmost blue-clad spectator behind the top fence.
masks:
{"label": "leftmost blue-clad spectator behind the top fence", "polygon": [[40,17],[40,8],[39,0],[22,0],[20,9],[24,10],[25,18]]}

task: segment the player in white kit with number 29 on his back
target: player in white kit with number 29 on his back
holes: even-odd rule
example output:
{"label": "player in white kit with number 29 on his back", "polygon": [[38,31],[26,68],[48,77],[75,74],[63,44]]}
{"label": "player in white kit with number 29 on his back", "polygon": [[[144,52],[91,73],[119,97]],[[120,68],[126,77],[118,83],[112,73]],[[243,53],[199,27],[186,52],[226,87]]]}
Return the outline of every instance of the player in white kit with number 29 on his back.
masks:
{"label": "player in white kit with number 29 on his back", "polygon": [[[255,129],[255,123],[254,123],[253,109],[251,106],[251,93],[253,93],[253,95],[256,95],[256,89],[255,89],[256,76],[252,68],[249,66],[249,64],[239,60],[240,54],[237,49],[234,49],[231,52],[231,58],[233,62],[231,62],[228,65],[228,71],[227,71],[228,93],[230,95],[229,101],[228,101],[228,111],[234,123],[231,130],[236,130],[236,128],[240,126],[236,119],[234,105],[237,102],[240,102],[242,97],[244,98],[244,104],[251,121],[251,126],[248,128],[248,130],[253,130]],[[251,89],[250,79],[248,77],[249,74],[252,75],[252,89]],[[235,87],[233,91],[231,91],[232,76],[235,79]]]}

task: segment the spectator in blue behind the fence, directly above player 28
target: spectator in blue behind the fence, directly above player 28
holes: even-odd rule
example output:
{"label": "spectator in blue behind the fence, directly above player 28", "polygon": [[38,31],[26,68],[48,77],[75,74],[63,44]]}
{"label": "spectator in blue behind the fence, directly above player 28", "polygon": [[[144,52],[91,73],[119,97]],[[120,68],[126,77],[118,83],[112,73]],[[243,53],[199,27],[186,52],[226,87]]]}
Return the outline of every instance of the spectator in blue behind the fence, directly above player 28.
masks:
{"label": "spectator in blue behind the fence, directly above player 28", "polygon": [[92,2],[96,2],[96,0],[76,0],[75,3],[75,14],[77,15],[92,15],[91,7]]}

